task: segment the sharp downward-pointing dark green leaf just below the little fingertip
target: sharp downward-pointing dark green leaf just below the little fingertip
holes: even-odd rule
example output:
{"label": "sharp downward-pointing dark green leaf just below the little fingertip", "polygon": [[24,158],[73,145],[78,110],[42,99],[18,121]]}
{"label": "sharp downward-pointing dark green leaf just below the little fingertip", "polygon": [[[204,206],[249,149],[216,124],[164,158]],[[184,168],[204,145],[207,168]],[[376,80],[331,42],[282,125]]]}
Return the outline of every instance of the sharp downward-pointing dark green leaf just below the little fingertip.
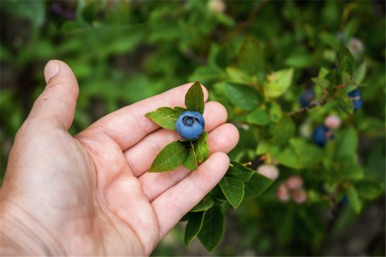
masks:
{"label": "sharp downward-pointing dark green leaf just below the little fingertip", "polygon": [[244,183],[238,178],[224,176],[219,185],[226,199],[236,209],[244,197]]}

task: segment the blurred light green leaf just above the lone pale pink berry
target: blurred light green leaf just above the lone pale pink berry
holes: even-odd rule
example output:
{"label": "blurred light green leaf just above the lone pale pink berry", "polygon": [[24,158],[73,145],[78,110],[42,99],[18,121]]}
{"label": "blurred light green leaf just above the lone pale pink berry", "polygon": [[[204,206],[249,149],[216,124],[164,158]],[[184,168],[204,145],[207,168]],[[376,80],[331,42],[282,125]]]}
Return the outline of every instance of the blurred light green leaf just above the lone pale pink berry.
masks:
{"label": "blurred light green leaf just above the lone pale pink berry", "polygon": [[271,144],[269,146],[269,153],[275,160],[284,166],[294,169],[301,168],[301,156],[299,156],[296,149],[291,144],[286,144],[284,146]]}

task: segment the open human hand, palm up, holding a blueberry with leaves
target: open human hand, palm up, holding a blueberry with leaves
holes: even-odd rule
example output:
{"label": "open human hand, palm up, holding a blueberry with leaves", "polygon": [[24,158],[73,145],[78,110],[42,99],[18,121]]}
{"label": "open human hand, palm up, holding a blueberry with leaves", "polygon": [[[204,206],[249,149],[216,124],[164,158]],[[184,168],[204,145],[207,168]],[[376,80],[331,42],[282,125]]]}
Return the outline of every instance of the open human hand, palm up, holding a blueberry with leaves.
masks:
{"label": "open human hand, palm up, holding a blueberry with leaves", "polygon": [[47,86],[17,132],[0,190],[0,254],[149,255],[229,167],[225,153],[238,132],[225,123],[225,108],[205,105],[210,157],[197,171],[148,173],[156,154],[180,137],[145,114],[184,106],[191,84],[121,108],[71,136],[76,78],[57,60],[44,75]]}

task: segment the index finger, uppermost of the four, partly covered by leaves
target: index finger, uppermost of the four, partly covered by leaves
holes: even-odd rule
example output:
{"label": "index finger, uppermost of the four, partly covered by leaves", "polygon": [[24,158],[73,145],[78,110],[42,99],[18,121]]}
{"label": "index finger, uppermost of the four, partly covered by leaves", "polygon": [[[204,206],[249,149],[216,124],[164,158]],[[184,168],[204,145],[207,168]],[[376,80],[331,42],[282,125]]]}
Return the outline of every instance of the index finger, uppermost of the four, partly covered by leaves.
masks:
{"label": "index finger, uppermost of the four, partly covered by leaves", "polygon": [[[79,135],[87,136],[103,133],[113,139],[122,151],[141,141],[147,134],[160,128],[145,115],[159,107],[185,106],[185,95],[193,83],[174,87],[160,95],[133,103],[108,114],[91,124]],[[202,86],[204,101],[208,99],[208,91]]]}

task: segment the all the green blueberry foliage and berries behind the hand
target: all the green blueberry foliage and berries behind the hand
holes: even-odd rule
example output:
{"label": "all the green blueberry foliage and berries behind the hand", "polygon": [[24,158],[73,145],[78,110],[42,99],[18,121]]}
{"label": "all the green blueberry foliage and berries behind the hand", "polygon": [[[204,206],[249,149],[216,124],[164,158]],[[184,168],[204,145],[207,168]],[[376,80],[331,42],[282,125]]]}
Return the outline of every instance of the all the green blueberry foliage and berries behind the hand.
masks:
{"label": "all the green blueberry foliage and berries behind the hand", "polygon": [[72,134],[199,81],[240,140],[225,177],[154,255],[384,256],[384,10],[383,1],[2,1],[0,179],[50,59],[79,82]]}

